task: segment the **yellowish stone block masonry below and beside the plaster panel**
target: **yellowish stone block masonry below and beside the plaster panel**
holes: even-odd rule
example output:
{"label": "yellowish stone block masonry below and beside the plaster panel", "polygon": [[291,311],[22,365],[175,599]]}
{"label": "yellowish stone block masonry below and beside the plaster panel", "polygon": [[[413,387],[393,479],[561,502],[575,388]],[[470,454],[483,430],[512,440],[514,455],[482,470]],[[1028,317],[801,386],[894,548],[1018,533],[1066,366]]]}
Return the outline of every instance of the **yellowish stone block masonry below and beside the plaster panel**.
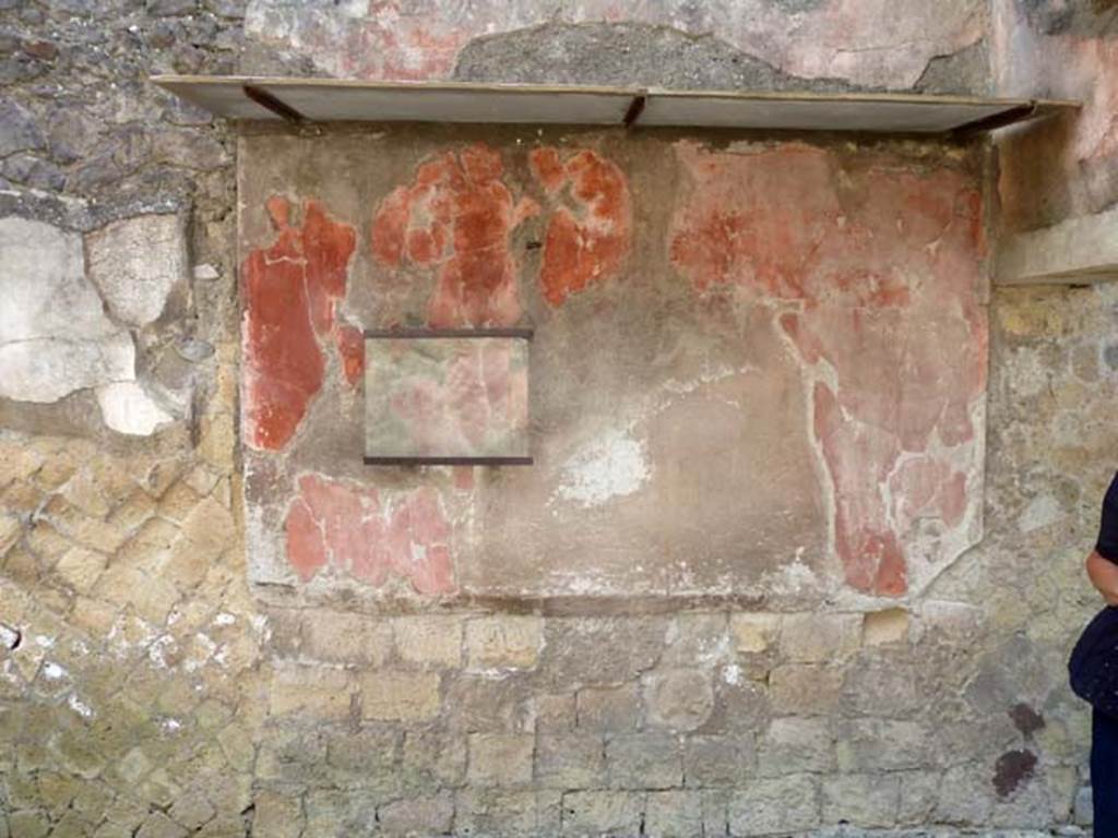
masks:
{"label": "yellowish stone block masonry below and beside the plaster panel", "polygon": [[[1002,293],[998,351],[1071,369],[1090,346],[1055,342],[1048,294]],[[1118,292],[1088,302],[1076,328],[1110,328]],[[1023,438],[1083,408],[1018,360],[992,384],[999,534],[866,613],[267,604],[230,459],[0,434],[0,838],[1086,836],[1064,660],[1095,600],[1065,542],[1110,438],[1035,460]],[[1038,527],[1048,492],[1067,512]]]}

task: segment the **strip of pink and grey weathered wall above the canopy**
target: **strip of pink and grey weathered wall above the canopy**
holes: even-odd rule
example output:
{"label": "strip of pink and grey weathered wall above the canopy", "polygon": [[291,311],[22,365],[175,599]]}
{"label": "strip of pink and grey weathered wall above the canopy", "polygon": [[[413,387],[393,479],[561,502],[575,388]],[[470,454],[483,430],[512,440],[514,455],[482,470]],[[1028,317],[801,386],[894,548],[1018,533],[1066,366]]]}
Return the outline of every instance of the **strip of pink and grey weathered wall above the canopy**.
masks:
{"label": "strip of pink and grey weathered wall above the canopy", "polygon": [[313,72],[358,78],[790,83],[983,92],[983,0],[313,3],[253,0],[246,31]]}

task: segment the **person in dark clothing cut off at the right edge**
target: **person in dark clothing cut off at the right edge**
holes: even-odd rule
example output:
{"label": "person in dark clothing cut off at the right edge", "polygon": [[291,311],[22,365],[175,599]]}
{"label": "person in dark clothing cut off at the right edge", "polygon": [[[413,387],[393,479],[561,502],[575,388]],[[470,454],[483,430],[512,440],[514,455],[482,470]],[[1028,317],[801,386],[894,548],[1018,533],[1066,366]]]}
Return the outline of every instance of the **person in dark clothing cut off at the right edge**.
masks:
{"label": "person in dark clothing cut off at the right edge", "polygon": [[[1095,551],[1087,556],[1087,575],[1107,604],[1118,607],[1118,474],[1102,501],[1102,523]],[[1091,716],[1091,798],[1095,838],[1118,838],[1118,718],[1097,710]]]}

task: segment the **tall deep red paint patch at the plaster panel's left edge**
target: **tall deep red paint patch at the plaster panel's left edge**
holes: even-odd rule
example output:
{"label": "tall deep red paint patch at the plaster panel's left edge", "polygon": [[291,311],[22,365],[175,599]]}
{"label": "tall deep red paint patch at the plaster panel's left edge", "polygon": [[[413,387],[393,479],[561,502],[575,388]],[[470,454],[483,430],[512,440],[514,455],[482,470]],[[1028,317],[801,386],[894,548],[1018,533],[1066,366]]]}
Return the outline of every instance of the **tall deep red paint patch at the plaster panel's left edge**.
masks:
{"label": "tall deep red paint patch at the plaster panel's left edge", "polygon": [[334,327],[357,237],[318,201],[306,201],[300,227],[291,225],[285,198],[269,198],[266,207],[275,241],[252,250],[244,268],[246,439],[278,450],[322,387],[318,337]]}

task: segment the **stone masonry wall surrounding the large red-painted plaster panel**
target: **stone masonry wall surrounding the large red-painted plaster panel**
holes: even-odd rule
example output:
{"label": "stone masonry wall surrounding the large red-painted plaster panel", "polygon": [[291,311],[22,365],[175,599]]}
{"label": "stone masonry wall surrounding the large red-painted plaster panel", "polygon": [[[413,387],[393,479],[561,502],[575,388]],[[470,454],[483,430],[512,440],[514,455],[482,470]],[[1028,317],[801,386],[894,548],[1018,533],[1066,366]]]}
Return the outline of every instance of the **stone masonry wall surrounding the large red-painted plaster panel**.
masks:
{"label": "stone masonry wall surrounding the large red-painted plaster panel", "polygon": [[994,291],[985,532],[917,600],[250,593],[231,132],[149,73],[988,85],[985,3],[427,6],[0,1],[0,836],[1074,834],[1112,286]]}

